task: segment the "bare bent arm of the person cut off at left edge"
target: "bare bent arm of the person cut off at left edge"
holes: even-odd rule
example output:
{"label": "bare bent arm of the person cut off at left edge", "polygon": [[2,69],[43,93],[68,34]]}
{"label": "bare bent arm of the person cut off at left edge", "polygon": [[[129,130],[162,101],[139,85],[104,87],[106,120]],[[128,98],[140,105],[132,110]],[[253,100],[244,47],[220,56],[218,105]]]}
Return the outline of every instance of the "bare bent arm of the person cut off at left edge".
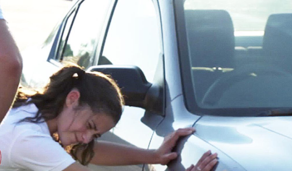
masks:
{"label": "bare bent arm of the person cut off at left edge", "polygon": [[0,19],[0,122],[13,102],[22,71],[22,59],[6,21]]}

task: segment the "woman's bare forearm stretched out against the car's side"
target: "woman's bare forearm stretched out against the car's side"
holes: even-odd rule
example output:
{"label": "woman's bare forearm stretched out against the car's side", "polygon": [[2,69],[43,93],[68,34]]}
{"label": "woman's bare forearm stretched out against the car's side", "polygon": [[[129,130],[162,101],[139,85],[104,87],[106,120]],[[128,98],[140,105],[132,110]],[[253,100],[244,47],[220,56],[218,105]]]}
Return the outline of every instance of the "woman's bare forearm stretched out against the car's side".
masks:
{"label": "woman's bare forearm stretched out against the car's side", "polygon": [[94,144],[94,156],[90,163],[96,165],[136,165],[159,163],[154,150],[141,149],[105,141]]}

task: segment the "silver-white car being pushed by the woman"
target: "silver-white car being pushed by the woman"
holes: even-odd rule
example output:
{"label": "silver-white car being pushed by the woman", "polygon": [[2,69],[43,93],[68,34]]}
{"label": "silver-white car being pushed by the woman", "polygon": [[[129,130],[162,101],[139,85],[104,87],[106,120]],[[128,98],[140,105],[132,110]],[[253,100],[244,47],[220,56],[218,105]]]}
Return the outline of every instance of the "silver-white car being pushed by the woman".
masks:
{"label": "silver-white car being pushed by the woman", "polygon": [[291,0],[78,0],[22,55],[31,86],[67,61],[112,74],[127,106],[102,139],[152,149],[196,128],[167,166],[91,168],[180,171],[211,149],[217,171],[292,170]]}

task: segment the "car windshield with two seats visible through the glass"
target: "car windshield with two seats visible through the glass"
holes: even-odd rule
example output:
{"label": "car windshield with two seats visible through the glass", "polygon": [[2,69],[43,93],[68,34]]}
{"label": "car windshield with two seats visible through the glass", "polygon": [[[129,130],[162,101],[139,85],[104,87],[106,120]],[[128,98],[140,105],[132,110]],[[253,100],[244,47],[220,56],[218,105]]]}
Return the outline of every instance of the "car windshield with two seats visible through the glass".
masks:
{"label": "car windshield with two seats visible through the glass", "polygon": [[[183,74],[194,92],[188,104],[214,109],[292,107],[292,1],[176,2]],[[181,10],[181,11],[179,11]],[[184,40],[184,39],[181,39]],[[188,62],[186,64],[186,62]],[[211,110],[212,109],[212,110]],[[224,111],[224,110],[223,110]],[[226,112],[226,110],[225,110]]]}

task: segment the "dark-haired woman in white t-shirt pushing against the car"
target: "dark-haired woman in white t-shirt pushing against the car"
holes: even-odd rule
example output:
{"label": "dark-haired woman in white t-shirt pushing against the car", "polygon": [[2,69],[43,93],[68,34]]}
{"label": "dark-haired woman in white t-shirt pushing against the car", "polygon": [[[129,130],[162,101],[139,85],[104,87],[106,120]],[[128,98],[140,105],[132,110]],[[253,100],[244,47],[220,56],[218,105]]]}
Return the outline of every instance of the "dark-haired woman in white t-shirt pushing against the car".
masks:
{"label": "dark-haired woman in white t-shirt pushing against the car", "polygon": [[[167,164],[177,157],[171,152],[177,139],[194,132],[194,128],[179,129],[157,150],[95,141],[117,124],[123,105],[120,89],[109,76],[78,66],[62,68],[37,93],[20,89],[0,125],[0,170],[88,170],[84,166],[88,163]],[[199,165],[188,170],[212,168],[217,154],[204,155]]]}

